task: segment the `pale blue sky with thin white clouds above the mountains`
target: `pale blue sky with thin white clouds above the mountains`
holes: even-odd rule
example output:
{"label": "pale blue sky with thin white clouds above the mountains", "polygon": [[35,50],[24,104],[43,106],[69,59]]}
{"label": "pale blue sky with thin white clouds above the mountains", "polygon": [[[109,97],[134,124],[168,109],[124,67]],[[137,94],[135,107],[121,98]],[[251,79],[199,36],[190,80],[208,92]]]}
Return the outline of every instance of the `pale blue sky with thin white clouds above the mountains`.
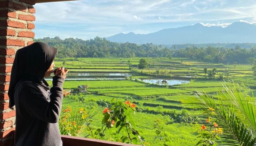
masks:
{"label": "pale blue sky with thin white clouds above the mountains", "polygon": [[256,22],[256,0],[78,0],[34,5],[35,38],[148,34],[201,23]]}

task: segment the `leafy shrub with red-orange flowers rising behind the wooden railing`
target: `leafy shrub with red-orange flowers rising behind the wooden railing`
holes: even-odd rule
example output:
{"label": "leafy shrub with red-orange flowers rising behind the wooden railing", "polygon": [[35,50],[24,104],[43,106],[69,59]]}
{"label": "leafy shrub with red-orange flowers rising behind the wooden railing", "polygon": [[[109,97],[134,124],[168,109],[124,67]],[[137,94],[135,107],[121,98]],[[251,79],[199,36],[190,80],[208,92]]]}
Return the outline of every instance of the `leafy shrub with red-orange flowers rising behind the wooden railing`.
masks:
{"label": "leafy shrub with red-orange flowers rising behind the wooden railing", "polygon": [[99,136],[105,136],[106,128],[113,128],[116,126],[118,129],[118,133],[121,130],[127,132],[127,135],[123,135],[120,139],[120,142],[130,142],[132,144],[143,144],[144,139],[140,137],[139,131],[135,130],[136,125],[133,121],[131,113],[135,114],[136,112],[136,104],[131,103],[131,101],[116,101],[113,102],[110,108],[106,107],[102,114],[104,115],[102,119],[102,128],[98,128],[96,134]]}

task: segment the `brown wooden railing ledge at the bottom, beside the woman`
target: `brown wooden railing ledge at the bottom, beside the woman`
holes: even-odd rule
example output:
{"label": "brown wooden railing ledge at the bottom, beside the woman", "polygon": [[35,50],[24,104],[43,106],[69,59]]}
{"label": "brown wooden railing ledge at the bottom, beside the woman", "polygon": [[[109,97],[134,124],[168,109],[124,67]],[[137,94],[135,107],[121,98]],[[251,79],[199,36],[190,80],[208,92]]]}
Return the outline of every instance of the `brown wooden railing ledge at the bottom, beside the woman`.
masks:
{"label": "brown wooden railing ledge at the bottom, beside the woman", "polygon": [[99,139],[89,139],[61,135],[63,146],[138,146],[121,142],[103,141]]}

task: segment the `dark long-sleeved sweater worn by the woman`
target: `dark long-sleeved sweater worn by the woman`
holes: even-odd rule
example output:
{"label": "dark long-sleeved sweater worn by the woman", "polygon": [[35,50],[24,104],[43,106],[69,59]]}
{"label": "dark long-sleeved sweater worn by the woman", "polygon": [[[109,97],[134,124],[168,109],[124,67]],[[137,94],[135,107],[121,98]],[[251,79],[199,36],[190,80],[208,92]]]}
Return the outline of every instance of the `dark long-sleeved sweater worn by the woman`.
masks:
{"label": "dark long-sleeved sweater worn by the woman", "polygon": [[15,146],[62,146],[58,121],[64,80],[54,76],[50,90],[32,81],[17,85]]}

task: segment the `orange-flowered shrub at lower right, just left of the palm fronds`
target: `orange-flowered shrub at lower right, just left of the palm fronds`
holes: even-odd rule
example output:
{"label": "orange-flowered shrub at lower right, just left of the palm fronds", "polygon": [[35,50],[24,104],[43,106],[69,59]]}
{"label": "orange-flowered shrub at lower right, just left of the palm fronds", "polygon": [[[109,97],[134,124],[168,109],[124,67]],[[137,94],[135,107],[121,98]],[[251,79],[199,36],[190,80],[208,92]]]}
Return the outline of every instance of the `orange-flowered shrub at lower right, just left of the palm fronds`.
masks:
{"label": "orange-flowered shrub at lower right, just left of the palm fronds", "polygon": [[[213,111],[213,109],[209,109],[209,110]],[[208,119],[206,119],[207,126],[206,125],[201,126],[201,128],[198,131],[200,141],[197,142],[196,145],[199,145],[199,146],[216,145],[215,139],[220,138],[218,134],[222,134],[223,129],[219,127],[216,122],[213,122],[213,121],[215,121],[215,119],[209,117]]]}

